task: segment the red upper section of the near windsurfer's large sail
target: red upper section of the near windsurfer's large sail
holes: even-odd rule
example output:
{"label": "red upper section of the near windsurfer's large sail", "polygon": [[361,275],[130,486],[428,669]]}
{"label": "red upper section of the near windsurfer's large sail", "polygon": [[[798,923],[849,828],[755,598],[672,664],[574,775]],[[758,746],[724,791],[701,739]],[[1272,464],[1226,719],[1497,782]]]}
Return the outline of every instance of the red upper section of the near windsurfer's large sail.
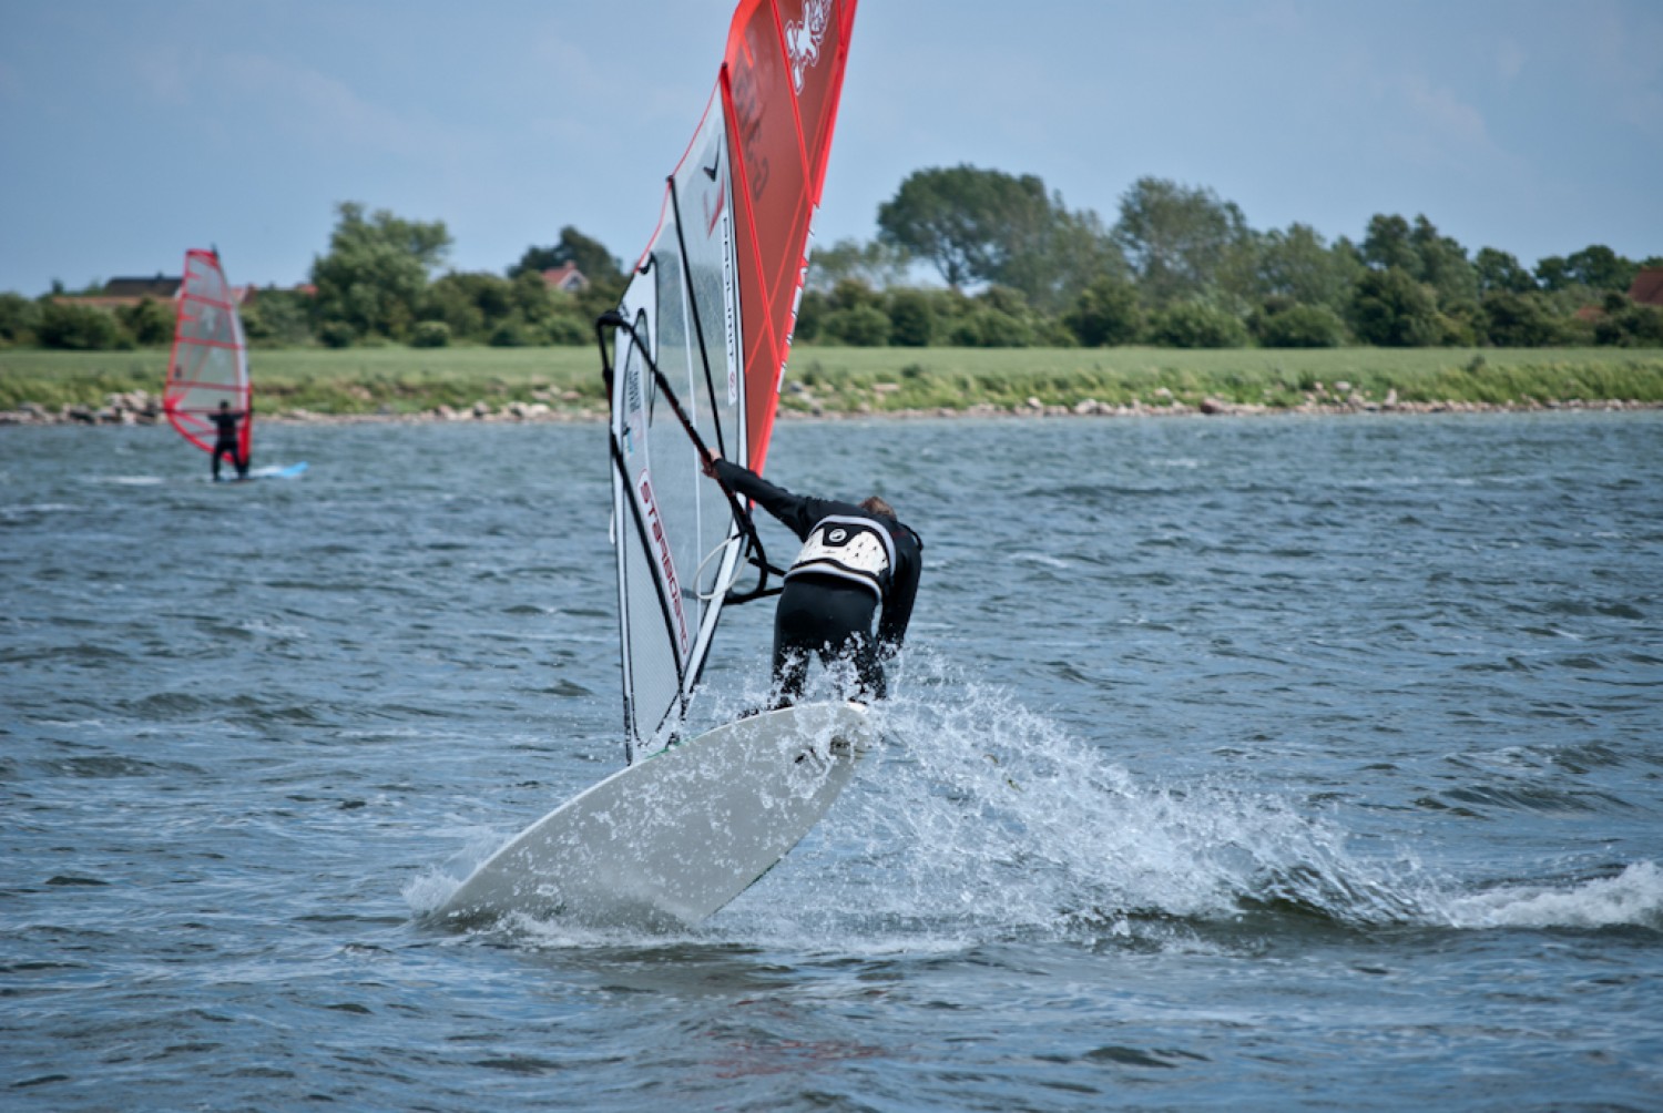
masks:
{"label": "red upper section of the near windsurfer's large sail", "polygon": [[722,103],[733,160],[750,467],[762,471],[808,273],[855,0],[742,0]]}

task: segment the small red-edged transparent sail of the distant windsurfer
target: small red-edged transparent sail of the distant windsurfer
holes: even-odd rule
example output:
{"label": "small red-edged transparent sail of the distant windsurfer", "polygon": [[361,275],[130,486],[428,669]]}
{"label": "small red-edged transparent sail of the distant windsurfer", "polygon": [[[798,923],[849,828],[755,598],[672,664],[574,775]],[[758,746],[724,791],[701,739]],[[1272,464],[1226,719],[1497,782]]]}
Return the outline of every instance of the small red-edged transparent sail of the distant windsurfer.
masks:
{"label": "small red-edged transparent sail of the distant windsurfer", "polygon": [[180,284],[173,324],[173,354],[161,394],[168,421],[186,441],[211,453],[218,429],[213,414],[220,403],[243,414],[238,423],[238,453],[246,461],[253,443],[254,414],[249,408],[248,348],[236,298],[220,256],[213,251],[185,253],[185,281]]}

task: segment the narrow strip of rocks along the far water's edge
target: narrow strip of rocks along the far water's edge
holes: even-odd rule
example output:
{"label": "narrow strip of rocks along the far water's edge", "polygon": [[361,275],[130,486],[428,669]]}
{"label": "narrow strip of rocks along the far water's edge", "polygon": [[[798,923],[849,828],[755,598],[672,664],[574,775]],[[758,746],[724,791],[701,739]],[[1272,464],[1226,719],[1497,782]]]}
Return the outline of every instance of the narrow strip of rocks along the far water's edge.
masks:
{"label": "narrow strip of rocks along the far water's edge", "polygon": [[[1335,384],[1342,386],[1342,384]],[[1157,391],[1162,394],[1164,391]],[[808,403],[803,408],[803,403]],[[793,404],[797,403],[797,404]],[[1305,394],[1305,401],[1297,406],[1262,406],[1247,403],[1231,403],[1207,398],[1197,404],[1189,404],[1166,394],[1159,403],[1146,404],[1133,401],[1129,404],[1099,403],[1081,399],[1073,406],[1046,404],[1038,398],[1029,398],[1019,406],[975,404],[955,409],[938,406],[931,409],[878,409],[871,404],[860,404],[855,409],[828,409],[812,399],[790,399],[780,408],[782,419],[858,419],[858,418],[1181,418],[1181,416],[1290,416],[1290,414],[1447,414],[1447,413],[1545,413],[1545,411],[1623,411],[1623,409],[1658,409],[1663,403],[1638,399],[1548,399],[1523,403],[1467,403],[1467,401],[1399,401],[1390,391],[1384,399],[1374,401],[1357,393],[1345,394]],[[499,424],[521,423],[582,423],[604,421],[605,409],[565,403],[550,406],[549,403],[502,403],[492,406],[477,401],[469,408],[436,406],[419,413],[381,413],[368,414],[321,414],[309,409],[281,409],[259,413],[261,421],[283,421],[296,424],[359,424],[359,423],[456,423],[479,421]],[[150,426],[161,424],[166,416],[161,411],[161,398],[148,391],[130,391],[110,394],[105,404],[93,406],[60,406],[48,409],[35,403],[23,403],[17,409],[0,409],[0,426]]]}

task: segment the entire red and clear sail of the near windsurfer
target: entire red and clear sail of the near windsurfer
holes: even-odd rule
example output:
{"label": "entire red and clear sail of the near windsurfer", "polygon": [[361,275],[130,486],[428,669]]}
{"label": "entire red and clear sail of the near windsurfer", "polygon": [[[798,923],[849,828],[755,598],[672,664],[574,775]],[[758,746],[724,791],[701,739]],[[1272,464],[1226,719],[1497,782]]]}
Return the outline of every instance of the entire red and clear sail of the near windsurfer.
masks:
{"label": "entire red and clear sail of the near windsurfer", "polygon": [[762,471],[853,22],[855,0],[740,0],[619,304],[609,371],[632,747],[685,707],[743,557],[682,418],[712,451]]}

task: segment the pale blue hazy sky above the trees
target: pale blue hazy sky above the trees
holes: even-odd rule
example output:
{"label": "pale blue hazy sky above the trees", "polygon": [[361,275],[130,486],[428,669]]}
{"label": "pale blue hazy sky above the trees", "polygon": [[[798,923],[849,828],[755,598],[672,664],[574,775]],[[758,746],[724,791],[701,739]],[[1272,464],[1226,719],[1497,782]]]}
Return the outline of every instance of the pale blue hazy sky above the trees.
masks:
{"label": "pale blue hazy sky above the trees", "polygon": [[[306,281],[336,205],[444,221],[502,273],[575,226],[625,263],[715,83],[732,0],[0,0],[0,291]],[[1663,256],[1656,0],[865,0],[817,243],[916,170],[1134,181],[1261,231],[1424,215],[1525,266]]]}

